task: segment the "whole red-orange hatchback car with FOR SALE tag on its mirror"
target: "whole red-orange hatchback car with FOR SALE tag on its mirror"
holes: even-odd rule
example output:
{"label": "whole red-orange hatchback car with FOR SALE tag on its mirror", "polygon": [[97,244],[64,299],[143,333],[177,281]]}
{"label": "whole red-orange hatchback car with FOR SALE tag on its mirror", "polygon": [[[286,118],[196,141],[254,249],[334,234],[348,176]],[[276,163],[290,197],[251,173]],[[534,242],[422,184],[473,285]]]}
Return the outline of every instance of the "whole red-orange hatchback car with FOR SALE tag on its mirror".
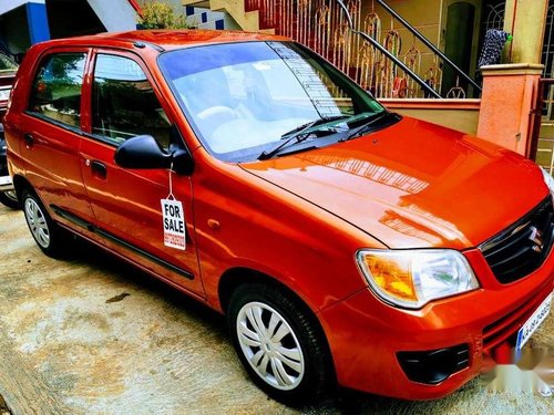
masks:
{"label": "whole red-orange hatchback car with FOR SALE tag on its mirror", "polygon": [[387,111],[285,38],[38,44],[6,136],[45,253],[75,234],[225,313],[286,402],[447,395],[550,311],[552,178]]}

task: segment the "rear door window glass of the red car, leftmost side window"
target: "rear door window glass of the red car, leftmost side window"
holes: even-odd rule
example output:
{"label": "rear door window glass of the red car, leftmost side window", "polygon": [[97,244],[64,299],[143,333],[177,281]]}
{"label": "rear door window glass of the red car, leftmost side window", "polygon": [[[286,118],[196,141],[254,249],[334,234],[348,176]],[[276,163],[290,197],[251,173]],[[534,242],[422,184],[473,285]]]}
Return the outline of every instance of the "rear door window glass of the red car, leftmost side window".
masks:
{"label": "rear door window glass of the red car, leftmost side window", "polygon": [[85,61],[85,53],[44,58],[32,84],[29,111],[79,128]]}

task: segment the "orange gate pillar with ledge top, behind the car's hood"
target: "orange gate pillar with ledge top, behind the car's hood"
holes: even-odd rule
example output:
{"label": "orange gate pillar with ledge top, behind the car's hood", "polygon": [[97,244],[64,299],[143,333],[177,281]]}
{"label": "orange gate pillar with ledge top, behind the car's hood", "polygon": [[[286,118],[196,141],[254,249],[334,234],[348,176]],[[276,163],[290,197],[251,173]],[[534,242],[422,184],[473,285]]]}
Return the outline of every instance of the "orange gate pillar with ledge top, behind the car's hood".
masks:
{"label": "orange gate pillar with ledge top, behind the car's hood", "polygon": [[527,156],[531,110],[543,65],[514,63],[482,66],[483,93],[478,136]]}

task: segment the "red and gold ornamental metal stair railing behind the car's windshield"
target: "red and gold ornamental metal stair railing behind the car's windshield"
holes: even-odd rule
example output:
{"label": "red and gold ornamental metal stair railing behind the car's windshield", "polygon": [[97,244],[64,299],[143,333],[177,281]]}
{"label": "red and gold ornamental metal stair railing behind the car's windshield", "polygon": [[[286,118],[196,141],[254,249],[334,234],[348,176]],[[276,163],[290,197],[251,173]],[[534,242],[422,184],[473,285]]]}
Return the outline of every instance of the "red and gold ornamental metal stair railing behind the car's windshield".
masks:
{"label": "red and gold ornamental metal stair railing behind the car's windshield", "polygon": [[[342,0],[352,18],[352,29],[370,37],[377,45],[352,33],[346,13],[335,0],[245,0],[245,9],[259,12],[260,29],[275,29],[276,34],[308,45],[378,97],[439,96],[444,56],[431,49],[428,54],[434,56],[432,62],[427,58],[429,66],[427,70],[421,68],[422,51],[416,38],[423,39],[422,35],[414,34],[411,48],[401,51],[402,40],[394,24],[408,25],[412,33],[416,29],[399,20],[390,8],[394,13],[390,17],[391,27],[381,28],[376,2],[382,6],[381,1],[372,0],[366,10],[369,12],[363,15],[361,0]],[[384,50],[379,50],[378,45]],[[460,85],[459,81],[445,97],[465,97],[466,85]],[[479,85],[474,84],[473,89],[479,94]]]}

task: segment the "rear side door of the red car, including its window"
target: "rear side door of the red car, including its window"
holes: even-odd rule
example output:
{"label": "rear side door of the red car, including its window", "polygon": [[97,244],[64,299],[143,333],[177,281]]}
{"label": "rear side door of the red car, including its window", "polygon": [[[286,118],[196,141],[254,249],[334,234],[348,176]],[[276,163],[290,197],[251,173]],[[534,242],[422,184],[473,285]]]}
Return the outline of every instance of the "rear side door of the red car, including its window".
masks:
{"label": "rear side door of the red car, including its window", "polygon": [[88,49],[54,49],[44,53],[33,72],[27,111],[14,120],[27,178],[53,217],[81,234],[101,240],[75,220],[94,217],[81,178],[82,92]]}

